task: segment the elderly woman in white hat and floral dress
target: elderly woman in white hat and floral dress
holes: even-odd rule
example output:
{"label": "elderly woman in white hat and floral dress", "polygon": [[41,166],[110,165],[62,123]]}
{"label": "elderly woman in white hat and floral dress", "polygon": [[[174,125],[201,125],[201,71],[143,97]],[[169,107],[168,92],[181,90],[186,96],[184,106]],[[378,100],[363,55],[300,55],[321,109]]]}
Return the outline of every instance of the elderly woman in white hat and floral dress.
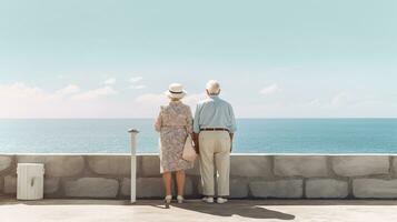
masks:
{"label": "elderly woman in white hat and floral dress", "polygon": [[162,105],[156,120],[156,131],[160,132],[160,172],[166,188],[166,203],[170,203],[171,172],[176,172],[178,203],[183,202],[185,170],[191,169],[192,163],[182,159],[183,147],[188,134],[192,134],[192,115],[190,108],[180,100],[186,95],[179,83],[169,85],[166,92],[169,104]]}

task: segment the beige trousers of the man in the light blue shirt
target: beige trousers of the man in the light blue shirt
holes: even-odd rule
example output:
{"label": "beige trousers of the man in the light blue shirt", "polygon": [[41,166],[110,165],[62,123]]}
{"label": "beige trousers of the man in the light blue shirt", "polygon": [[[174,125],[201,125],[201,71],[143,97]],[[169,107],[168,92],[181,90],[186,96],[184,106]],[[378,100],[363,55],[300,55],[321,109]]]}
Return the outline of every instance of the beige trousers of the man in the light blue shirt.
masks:
{"label": "beige trousers of the man in the light blue shirt", "polygon": [[215,195],[217,172],[218,195],[229,195],[230,135],[227,131],[202,131],[199,135],[200,172],[204,195]]}

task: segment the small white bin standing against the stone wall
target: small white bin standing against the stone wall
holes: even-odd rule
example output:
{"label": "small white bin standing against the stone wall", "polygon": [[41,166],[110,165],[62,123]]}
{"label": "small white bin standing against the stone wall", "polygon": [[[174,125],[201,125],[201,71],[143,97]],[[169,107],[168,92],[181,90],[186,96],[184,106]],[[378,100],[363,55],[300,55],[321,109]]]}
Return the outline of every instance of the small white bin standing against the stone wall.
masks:
{"label": "small white bin standing against the stone wall", "polygon": [[44,191],[44,164],[18,163],[17,199],[41,200]]}

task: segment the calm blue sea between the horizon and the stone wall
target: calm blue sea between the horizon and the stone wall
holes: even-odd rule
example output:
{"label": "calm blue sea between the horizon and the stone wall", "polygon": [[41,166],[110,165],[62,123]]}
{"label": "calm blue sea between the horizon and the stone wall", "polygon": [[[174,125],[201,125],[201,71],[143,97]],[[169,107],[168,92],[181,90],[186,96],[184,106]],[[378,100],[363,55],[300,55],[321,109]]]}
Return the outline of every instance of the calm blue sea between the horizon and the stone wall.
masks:
{"label": "calm blue sea between the horizon and the stone wall", "polygon": [[[137,128],[138,152],[158,151],[147,119],[0,120],[0,153],[125,153]],[[397,153],[397,119],[240,119],[235,152]]]}

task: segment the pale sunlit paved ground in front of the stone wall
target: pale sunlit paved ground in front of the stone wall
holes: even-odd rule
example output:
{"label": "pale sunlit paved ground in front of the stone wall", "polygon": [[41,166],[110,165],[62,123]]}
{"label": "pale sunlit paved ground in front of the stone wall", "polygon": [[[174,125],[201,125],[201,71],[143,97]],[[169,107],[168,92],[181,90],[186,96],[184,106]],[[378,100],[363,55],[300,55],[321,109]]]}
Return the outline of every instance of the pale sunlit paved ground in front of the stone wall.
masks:
{"label": "pale sunlit paved ground in front of the stone wall", "polygon": [[395,222],[397,201],[231,201],[225,205],[189,201],[165,209],[161,201],[1,200],[1,222],[120,221],[305,221]]}

